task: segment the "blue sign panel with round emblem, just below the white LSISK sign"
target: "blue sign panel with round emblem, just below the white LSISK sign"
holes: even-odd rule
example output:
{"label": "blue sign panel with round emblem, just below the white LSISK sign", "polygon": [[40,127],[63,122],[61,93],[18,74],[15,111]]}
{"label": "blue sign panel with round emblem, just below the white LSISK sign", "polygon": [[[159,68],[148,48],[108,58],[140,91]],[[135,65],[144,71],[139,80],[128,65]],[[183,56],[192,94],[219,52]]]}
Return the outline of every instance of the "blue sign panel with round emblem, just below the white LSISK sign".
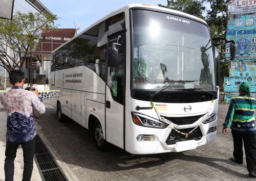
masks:
{"label": "blue sign panel with round emblem, just below the white LSISK sign", "polygon": [[[237,43],[237,54],[234,61],[256,60],[256,17],[243,15],[229,17],[226,39]],[[226,61],[230,60],[229,45],[226,46]]]}

